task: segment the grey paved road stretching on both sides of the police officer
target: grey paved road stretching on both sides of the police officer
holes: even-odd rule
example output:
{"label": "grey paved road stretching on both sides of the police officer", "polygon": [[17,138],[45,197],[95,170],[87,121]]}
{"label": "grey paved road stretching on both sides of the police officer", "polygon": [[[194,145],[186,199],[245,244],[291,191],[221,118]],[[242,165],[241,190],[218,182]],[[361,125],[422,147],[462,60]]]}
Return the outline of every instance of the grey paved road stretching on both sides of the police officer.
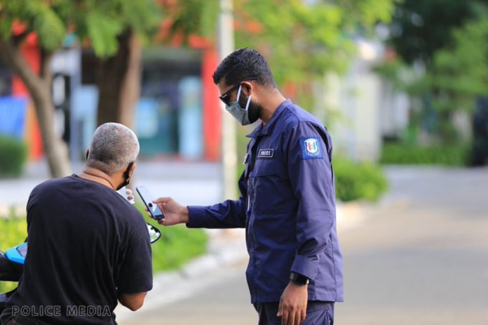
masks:
{"label": "grey paved road stretching on both sides of the police officer", "polygon": [[[347,301],[335,323],[488,324],[488,169],[387,172],[383,202],[339,229]],[[255,324],[243,270],[177,284],[191,295],[119,324]]]}

